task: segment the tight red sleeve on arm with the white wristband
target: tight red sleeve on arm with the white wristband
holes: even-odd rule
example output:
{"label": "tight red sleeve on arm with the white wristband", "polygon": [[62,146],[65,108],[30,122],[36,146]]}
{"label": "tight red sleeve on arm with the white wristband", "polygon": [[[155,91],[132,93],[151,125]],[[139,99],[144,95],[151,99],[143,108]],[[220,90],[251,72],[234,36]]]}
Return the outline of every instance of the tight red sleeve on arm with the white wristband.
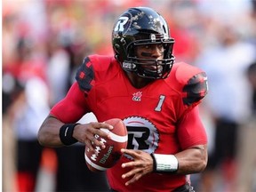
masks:
{"label": "tight red sleeve on arm with the white wristband", "polygon": [[178,138],[182,149],[207,143],[207,135],[198,107],[192,108],[181,118],[178,124]]}

